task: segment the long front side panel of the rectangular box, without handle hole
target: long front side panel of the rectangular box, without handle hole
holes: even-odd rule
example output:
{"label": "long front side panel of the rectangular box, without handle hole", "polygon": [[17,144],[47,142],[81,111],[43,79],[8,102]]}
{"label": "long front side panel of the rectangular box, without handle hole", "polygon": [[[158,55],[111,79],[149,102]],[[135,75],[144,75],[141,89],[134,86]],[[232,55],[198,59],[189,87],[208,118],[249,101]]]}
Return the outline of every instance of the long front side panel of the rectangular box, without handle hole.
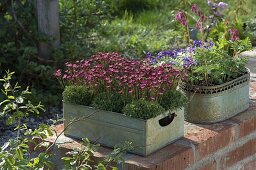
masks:
{"label": "long front side panel of the rectangular box, without handle hole", "polygon": [[146,121],[94,108],[63,104],[64,126],[72,120],[81,120],[70,125],[65,135],[77,139],[88,138],[91,142],[114,147],[130,141],[136,147],[137,154],[146,154]]}

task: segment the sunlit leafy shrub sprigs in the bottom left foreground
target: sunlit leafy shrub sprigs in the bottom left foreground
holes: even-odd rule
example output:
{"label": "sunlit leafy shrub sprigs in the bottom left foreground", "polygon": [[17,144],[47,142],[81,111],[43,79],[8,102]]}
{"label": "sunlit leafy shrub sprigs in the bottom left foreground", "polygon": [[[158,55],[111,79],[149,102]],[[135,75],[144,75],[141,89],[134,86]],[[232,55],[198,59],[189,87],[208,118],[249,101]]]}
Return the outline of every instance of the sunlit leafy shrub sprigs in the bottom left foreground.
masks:
{"label": "sunlit leafy shrub sprigs in the bottom left foreground", "polygon": [[[29,116],[29,113],[38,114],[43,111],[43,106],[41,104],[34,106],[29,100],[26,100],[25,96],[31,93],[28,88],[22,90],[18,83],[11,83],[13,74],[13,72],[7,72],[0,79],[0,89],[6,97],[5,100],[0,99],[0,118],[2,116],[8,117],[7,122],[16,125],[14,131],[18,133],[16,137],[9,139],[3,146],[0,146],[0,170],[57,169],[58,167],[53,162],[54,154],[51,151],[54,147],[59,146],[56,141],[65,129],[58,135],[56,134],[54,136],[56,140],[50,143],[47,142],[46,138],[54,135],[55,126],[40,124],[37,129],[32,130],[28,129],[26,124],[21,124],[22,118]],[[81,90],[81,88],[76,89]],[[82,88],[82,90],[84,89]],[[82,119],[75,119],[66,126],[68,127],[80,120]],[[58,120],[55,123],[57,122]],[[123,160],[126,151],[133,149],[132,143],[126,141],[121,146],[114,148],[113,152],[107,155],[105,159],[95,161],[93,153],[96,151],[97,145],[90,143],[88,139],[83,139],[81,144],[79,148],[74,148],[61,158],[64,162],[62,169],[116,170],[117,163]],[[39,148],[43,149],[37,152]]]}

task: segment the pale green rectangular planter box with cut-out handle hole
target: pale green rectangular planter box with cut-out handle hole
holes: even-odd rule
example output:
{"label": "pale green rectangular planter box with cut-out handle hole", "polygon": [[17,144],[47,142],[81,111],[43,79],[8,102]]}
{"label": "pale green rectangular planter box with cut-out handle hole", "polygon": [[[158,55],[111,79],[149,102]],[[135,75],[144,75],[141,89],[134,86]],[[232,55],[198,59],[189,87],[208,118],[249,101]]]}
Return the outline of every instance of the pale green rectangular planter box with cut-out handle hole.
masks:
{"label": "pale green rectangular planter box with cut-out handle hole", "polygon": [[148,120],[71,103],[63,103],[63,112],[65,127],[73,119],[81,119],[66,129],[66,136],[88,138],[108,147],[130,141],[135,148],[131,152],[143,156],[184,136],[183,109]]}

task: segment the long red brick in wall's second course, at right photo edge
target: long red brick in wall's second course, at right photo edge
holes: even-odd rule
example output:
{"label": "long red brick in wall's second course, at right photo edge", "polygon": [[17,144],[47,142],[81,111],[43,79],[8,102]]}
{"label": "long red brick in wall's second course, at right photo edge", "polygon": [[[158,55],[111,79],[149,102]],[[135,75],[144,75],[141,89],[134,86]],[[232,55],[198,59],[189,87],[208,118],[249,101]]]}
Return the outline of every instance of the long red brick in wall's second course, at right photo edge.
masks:
{"label": "long red brick in wall's second course, at right photo edge", "polygon": [[223,168],[230,167],[233,164],[256,153],[256,139],[250,140],[244,145],[227,153],[221,161]]}

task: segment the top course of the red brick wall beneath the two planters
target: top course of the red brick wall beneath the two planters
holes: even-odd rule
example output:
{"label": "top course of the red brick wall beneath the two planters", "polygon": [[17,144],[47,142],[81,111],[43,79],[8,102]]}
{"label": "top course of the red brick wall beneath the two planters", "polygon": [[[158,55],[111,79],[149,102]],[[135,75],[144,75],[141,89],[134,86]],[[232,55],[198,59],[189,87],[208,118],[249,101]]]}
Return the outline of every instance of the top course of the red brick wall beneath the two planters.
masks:
{"label": "top course of the red brick wall beneath the two planters", "polygon": [[[256,82],[255,84],[251,83],[250,87],[252,96],[252,94],[256,94]],[[63,128],[63,125],[55,127],[58,133],[60,133]],[[138,167],[152,168],[161,166],[161,164],[168,164],[171,160],[176,160],[176,158],[180,156],[188,155],[191,158],[186,159],[189,159],[188,164],[191,164],[198,159],[228,146],[230,143],[253,131],[256,131],[256,99],[251,99],[250,108],[248,110],[220,123],[199,125],[185,122],[185,138],[181,139],[181,141],[186,141],[185,144],[182,144],[184,142],[178,140],[148,157],[128,154],[126,162],[127,164]],[[53,139],[51,138],[51,140]],[[79,143],[79,141],[63,144],[61,147],[72,149],[74,146],[79,146],[77,143]],[[111,149],[100,147],[98,152],[95,152],[95,157],[104,157],[110,152]]]}

